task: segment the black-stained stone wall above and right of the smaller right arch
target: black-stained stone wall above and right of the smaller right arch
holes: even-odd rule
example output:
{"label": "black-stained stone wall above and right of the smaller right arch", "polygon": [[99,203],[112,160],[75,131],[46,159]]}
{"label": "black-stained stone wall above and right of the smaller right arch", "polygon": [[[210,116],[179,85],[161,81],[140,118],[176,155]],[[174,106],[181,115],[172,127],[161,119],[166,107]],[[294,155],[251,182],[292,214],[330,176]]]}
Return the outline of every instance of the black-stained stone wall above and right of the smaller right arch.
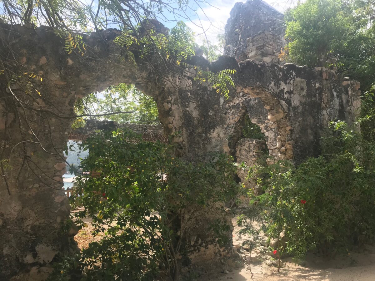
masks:
{"label": "black-stained stone wall above and right of the smaller right arch", "polygon": [[333,70],[243,61],[236,80],[239,94],[231,107],[240,108],[254,97],[261,100],[267,119],[249,117],[263,129],[275,158],[293,158],[298,163],[319,155],[320,138],[329,121],[336,118],[351,124],[359,114],[359,83]]}

